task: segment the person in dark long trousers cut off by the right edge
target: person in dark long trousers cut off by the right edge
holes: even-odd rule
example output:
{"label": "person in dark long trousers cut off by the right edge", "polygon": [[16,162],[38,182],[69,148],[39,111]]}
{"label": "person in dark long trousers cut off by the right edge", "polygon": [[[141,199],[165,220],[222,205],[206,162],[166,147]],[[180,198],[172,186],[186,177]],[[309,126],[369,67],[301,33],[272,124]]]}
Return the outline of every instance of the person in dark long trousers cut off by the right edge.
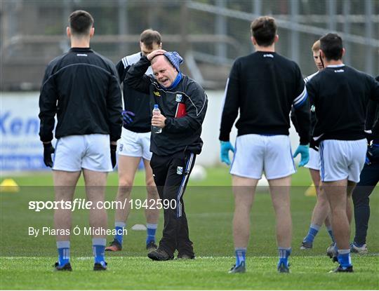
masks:
{"label": "person in dark long trousers cut off by the right edge", "polygon": [[[379,76],[376,77],[379,82]],[[367,252],[366,236],[368,219],[370,219],[369,196],[379,182],[379,104],[373,100],[368,102],[366,117],[366,133],[368,150],[366,162],[360,175],[360,181],[352,193],[354,203],[355,236],[350,245],[352,252]]]}

